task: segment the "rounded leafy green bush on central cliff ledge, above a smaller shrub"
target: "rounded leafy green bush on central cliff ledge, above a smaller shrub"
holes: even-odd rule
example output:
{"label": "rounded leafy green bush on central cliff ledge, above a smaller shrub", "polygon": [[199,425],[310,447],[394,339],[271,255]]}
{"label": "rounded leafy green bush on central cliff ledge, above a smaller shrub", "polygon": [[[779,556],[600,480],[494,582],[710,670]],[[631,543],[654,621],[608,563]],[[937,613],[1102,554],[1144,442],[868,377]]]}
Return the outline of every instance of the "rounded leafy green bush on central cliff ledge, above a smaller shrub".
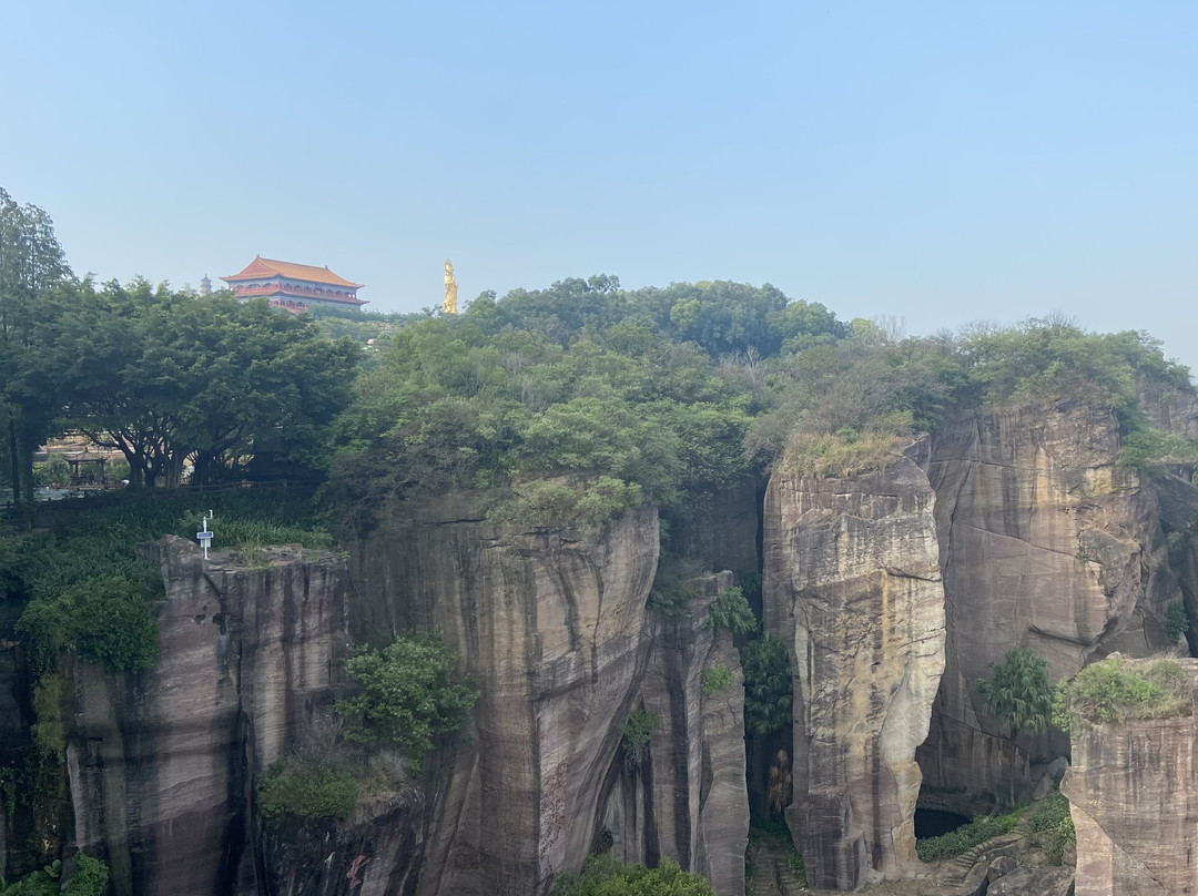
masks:
{"label": "rounded leafy green bush on central cliff ledge, above a smaller shrub", "polygon": [[438,631],[400,635],[382,653],[356,650],[345,661],[356,694],[334,707],[346,739],[395,744],[418,775],[434,738],[459,731],[478,700],[459,662]]}

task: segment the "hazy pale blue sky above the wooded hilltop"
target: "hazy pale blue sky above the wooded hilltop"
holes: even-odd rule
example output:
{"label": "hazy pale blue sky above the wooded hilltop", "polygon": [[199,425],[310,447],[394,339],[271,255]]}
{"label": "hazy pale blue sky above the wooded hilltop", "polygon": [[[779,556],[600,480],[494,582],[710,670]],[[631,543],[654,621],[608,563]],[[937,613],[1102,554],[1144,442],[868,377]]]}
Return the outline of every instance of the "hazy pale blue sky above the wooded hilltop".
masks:
{"label": "hazy pale blue sky above the wooded hilltop", "polygon": [[609,273],[910,333],[1059,310],[1198,368],[1198,4],[32,2],[0,186],[78,273],[255,254],[368,308]]}

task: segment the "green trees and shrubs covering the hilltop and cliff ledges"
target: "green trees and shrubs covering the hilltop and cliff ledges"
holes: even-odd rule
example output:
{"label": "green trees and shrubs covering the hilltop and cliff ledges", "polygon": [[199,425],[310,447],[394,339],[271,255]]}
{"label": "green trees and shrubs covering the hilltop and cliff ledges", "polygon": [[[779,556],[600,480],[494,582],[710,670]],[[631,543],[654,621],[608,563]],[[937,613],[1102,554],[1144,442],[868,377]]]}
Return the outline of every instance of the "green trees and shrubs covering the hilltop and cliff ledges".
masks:
{"label": "green trees and shrubs covering the hilltop and cliff ledges", "polygon": [[[44,211],[0,189],[0,486],[12,496],[0,585],[4,636],[29,670],[29,725],[5,735],[0,757],[10,825],[36,834],[43,804],[62,795],[73,658],[109,676],[152,667],[163,586],[133,545],[190,538],[200,503],[217,508],[217,546],[250,563],[271,544],[347,550],[397,505],[448,494],[478,496],[497,531],[544,537],[601,533],[652,508],[660,562],[648,607],[676,619],[696,558],[672,534],[738,483],[763,489],[783,467],[816,479],[879,470],[956,416],[1033,399],[1108,407],[1129,474],[1192,468],[1196,443],[1158,428],[1142,400],[1190,388],[1150,335],[1088,332],[1047,309],[907,335],[897,319],[842,320],[768,284],[625,290],[592,276],[484,292],[460,315],[389,316],[96,284],[72,272]],[[119,450],[128,488],[67,502],[78,507],[35,502],[35,454],[67,434]],[[282,485],[222,491],[267,455],[290,464]],[[201,489],[211,497],[196,501]],[[736,571],[740,587],[721,593],[710,625],[737,637],[745,737],[774,743],[792,721],[788,660],[760,624],[762,570]],[[389,743],[426,781],[422,759],[467,725],[479,695],[460,659],[435,632],[362,644],[345,661],[338,743],[362,757]],[[727,665],[712,667],[704,692],[731,682]],[[405,688],[437,695],[435,706],[382,696]],[[326,751],[272,765],[259,782],[264,817],[349,817],[365,765],[338,763]],[[29,872],[26,889],[2,892],[58,886],[52,865],[35,868],[61,858],[46,842],[10,858],[6,873]],[[93,868],[84,883],[89,868],[65,891],[103,892],[107,867],[98,884]],[[580,874],[553,892],[710,891],[668,860],[651,872],[597,856]]]}

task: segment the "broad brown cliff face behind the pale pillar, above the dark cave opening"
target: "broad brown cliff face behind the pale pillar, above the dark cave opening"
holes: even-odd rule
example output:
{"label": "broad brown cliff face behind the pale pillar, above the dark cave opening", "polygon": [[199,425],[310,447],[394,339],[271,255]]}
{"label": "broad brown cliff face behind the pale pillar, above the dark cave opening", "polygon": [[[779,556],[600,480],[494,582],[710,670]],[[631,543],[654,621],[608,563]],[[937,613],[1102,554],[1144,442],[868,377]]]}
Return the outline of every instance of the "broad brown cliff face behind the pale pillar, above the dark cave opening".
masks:
{"label": "broad brown cliff face behind the pale pillar, above the dark cave opening", "polygon": [[[1055,682],[1095,654],[1170,647],[1158,620],[1181,593],[1160,504],[1117,466],[1119,449],[1113,410],[1083,402],[970,414],[933,440],[948,646],[919,752],[931,783],[1009,791],[1012,746],[982,712],[976,686],[1008,650],[1031,649]],[[1029,786],[1018,756],[1016,795]]]}

